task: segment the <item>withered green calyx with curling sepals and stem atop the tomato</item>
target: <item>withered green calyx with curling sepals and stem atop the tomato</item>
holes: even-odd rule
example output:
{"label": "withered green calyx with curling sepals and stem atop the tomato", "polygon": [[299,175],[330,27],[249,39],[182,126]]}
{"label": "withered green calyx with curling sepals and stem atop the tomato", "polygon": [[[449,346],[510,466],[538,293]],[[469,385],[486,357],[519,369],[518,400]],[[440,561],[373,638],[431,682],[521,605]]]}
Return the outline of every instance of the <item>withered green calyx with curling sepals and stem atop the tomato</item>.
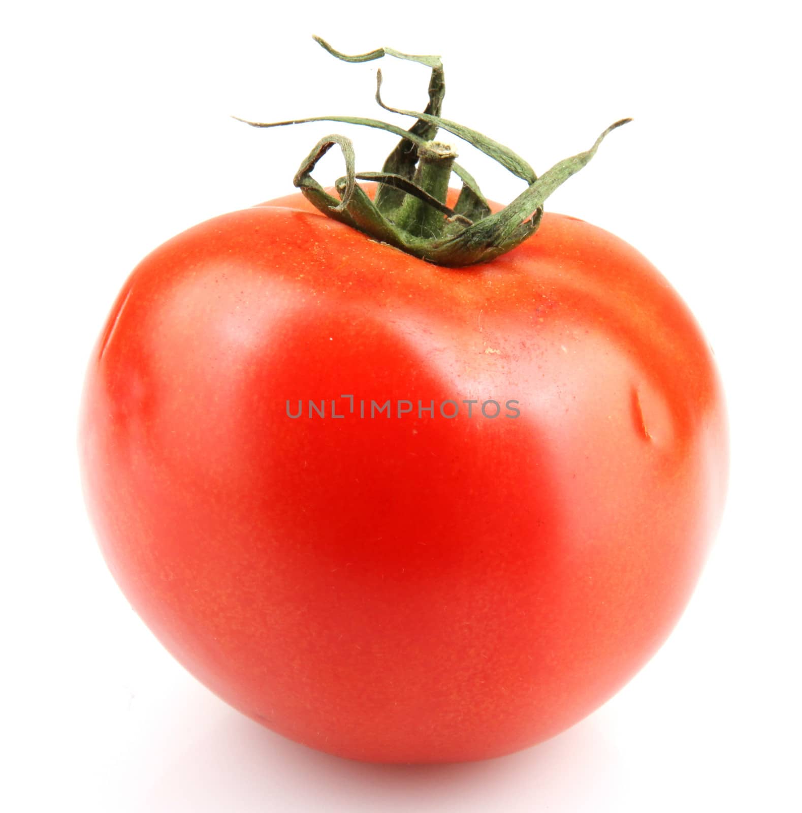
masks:
{"label": "withered green calyx with curling sepals and stem atop the tomato", "polygon": [[[445,94],[440,57],[401,54],[391,48],[379,48],[367,54],[348,56],[334,50],[320,37],[314,39],[330,54],[345,62],[369,62],[384,56],[394,56],[431,67],[429,103],[426,109],[418,113],[398,110],[384,104],[379,70],[376,101],[384,110],[413,116],[416,121],[409,130],[380,120],[341,115],[272,123],[246,121],[245,124],[253,127],[280,127],[310,121],[340,121],[379,128],[400,136],[401,141],[384,162],[381,172],[356,172],[350,139],[337,135],[327,136],[306,156],[293,182],[307,200],[325,215],[357,228],[374,240],[396,246],[438,265],[460,267],[484,263],[514,249],[527,237],[531,237],[540,224],[546,198],[592,159],[601,141],[611,130],[631,121],[622,119],[610,125],[596,139],[590,150],[560,161],[538,177],[532,167],[513,150],[440,116]],[[502,211],[493,214],[476,181],[455,162],[457,154],[453,147],[436,141],[439,129],[453,133],[482,150],[509,172],[526,181],[527,189]],[[339,199],[327,193],[311,176],[315,164],[334,145],[340,146],[346,167],[345,176],[337,180],[335,185]],[[462,180],[462,190],[453,209],[445,205],[452,172]],[[373,200],[357,183],[358,180],[373,180],[378,183]]]}

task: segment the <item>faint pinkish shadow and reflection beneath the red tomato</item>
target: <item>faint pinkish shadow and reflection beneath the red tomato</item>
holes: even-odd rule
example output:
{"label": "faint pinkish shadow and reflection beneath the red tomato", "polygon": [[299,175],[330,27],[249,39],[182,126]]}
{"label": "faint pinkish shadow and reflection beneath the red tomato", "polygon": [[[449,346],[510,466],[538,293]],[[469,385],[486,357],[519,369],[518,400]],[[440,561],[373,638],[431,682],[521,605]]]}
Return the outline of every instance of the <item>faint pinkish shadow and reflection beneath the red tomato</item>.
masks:
{"label": "faint pinkish shadow and reflection beneath the red tomato", "polygon": [[497,759],[388,765],[323,754],[225,710],[163,767],[143,802],[154,813],[578,811],[616,798],[620,779],[599,715]]}

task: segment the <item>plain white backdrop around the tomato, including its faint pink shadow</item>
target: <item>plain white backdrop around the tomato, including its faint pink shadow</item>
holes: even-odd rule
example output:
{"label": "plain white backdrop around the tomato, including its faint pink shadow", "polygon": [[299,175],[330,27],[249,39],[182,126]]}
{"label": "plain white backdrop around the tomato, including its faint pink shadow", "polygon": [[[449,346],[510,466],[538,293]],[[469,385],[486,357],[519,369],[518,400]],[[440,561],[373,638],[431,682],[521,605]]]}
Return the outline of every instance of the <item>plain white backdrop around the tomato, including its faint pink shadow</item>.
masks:
{"label": "plain white backdrop around the tomato, including its faint pink shadow", "polygon": [[[44,2],[2,20],[2,731],[7,811],[791,811],[800,805],[800,122],[791,2]],[[21,9],[21,10],[20,10]],[[488,19],[491,14],[497,20]],[[431,22],[427,22],[427,15]],[[596,159],[547,204],[630,241],[696,313],[726,385],[730,497],[670,641],[600,711],[541,746],[376,767],[260,728],[162,650],[85,518],[76,408],[106,312],[141,257],[292,191],[317,139],[358,169],[394,140],[282,120],[420,109],[539,172]],[[388,114],[389,115],[389,114]],[[399,120],[409,126],[409,120]],[[485,193],[521,182],[461,150]],[[342,174],[332,151],[318,177]]]}

